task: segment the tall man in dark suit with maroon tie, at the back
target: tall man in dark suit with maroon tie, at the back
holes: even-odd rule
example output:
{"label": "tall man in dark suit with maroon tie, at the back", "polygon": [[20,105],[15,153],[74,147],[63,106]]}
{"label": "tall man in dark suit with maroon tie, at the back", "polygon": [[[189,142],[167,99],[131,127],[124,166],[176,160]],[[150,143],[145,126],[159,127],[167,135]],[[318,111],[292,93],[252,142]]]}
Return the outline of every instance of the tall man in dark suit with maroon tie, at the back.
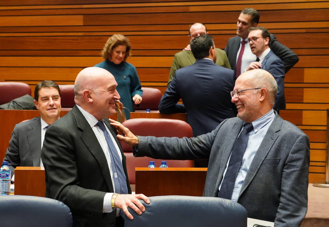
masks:
{"label": "tall man in dark suit with maroon tie, at the back", "polygon": [[[243,9],[237,22],[237,36],[230,38],[225,47],[225,52],[231,68],[236,72],[236,77],[244,72],[249,64],[256,59],[256,56],[251,52],[247,44],[247,38],[249,34],[248,29],[257,26],[259,17],[260,15],[257,10],[252,8]],[[273,34],[271,34],[271,41],[271,50],[282,60],[285,72],[288,72],[298,62],[298,56],[291,49],[279,43]]]}

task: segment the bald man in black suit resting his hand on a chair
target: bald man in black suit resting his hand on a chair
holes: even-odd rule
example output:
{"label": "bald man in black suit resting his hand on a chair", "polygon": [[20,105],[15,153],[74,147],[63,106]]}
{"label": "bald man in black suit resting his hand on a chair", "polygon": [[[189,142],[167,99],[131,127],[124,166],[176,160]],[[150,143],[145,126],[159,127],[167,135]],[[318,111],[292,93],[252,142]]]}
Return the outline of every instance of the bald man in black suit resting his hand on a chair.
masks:
{"label": "bald man in black suit resting his hand on a chair", "polygon": [[[45,135],[42,160],[46,197],[65,203],[73,226],[124,226],[145,207],[131,195],[126,159],[108,116],[120,99],[114,76],[98,67],[83,69],[74,83],[76,105],[52,124]],[[118,209],[117,209],[118,208]]]}

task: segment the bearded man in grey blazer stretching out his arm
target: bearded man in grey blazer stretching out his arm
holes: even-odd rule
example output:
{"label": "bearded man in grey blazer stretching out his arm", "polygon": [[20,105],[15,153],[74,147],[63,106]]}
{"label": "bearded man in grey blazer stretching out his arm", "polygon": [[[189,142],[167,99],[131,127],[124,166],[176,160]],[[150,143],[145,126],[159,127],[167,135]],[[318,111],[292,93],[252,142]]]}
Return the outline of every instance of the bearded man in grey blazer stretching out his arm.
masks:
{"label": "bearded man in grey blazer stretching out his arm", "polygon": [[119,122],[111,124],[124,135],[118,139],[134,145],[136,157],[209,158],[203,196],[236,201],[249,218],[275,227],[298,227],[307,211],[310,141],[273,110],[276,92],[267,71],[241,74],[231,92],[238,117],[196,138],[137,137]]}

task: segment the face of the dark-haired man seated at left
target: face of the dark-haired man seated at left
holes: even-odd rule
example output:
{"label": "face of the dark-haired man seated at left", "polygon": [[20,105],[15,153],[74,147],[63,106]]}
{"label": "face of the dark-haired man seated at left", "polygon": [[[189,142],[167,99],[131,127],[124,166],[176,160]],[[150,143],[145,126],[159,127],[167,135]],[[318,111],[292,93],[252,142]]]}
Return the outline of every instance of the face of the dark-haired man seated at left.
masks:
{"label": "face of the dark-haired man seated at left", "polygon": [[46,123],[51,124],[56,121],[61,112],[61,98],[55,87],[42,87],[39,90],[38,101],[34,104],[39,110],[40,117]]}

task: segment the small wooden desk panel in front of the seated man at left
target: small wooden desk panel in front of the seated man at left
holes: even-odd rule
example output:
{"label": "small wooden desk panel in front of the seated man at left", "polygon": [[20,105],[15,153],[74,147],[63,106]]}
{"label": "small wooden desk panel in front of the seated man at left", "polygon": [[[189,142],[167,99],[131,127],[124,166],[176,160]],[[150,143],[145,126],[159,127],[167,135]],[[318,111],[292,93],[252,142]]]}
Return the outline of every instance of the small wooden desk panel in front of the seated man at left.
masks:
{"label": "small wooden desk panel in front of the seated man at left", "polygon": [[46,184],[43,167],[15,168],[15,195],[45,197]]}

